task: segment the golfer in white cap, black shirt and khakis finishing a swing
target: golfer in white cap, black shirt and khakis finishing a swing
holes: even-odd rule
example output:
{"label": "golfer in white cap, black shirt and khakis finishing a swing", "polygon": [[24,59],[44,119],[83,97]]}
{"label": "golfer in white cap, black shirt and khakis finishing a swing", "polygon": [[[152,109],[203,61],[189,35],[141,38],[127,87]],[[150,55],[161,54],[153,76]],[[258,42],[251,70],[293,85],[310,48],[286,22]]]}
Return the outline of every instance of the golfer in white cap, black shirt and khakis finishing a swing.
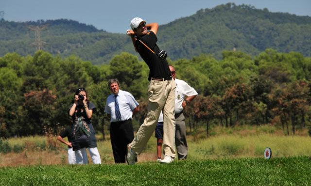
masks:
{"label": "golfer in white cap, black shirt and khakis finishing a swing", "polygon": [[[139,17],[131,20],[131,29],[126,34],[131,36],[135,50],[149,67],[150,81],[148,86],[148,113],[144,123],[140,126],[134,140],[128,144],[127,163],[135,164],[135,159],[141,153],[151,135],[161,110],[163,111],[163,149],[165,157],[162,163],[171,163],[176,157],[175,153],[175,89],[176,84],[172,79],[169,64],[159,55],[159,47],[156,45],[157,23],[146,24]],[[150,31],[148,31],[150,30]]]}

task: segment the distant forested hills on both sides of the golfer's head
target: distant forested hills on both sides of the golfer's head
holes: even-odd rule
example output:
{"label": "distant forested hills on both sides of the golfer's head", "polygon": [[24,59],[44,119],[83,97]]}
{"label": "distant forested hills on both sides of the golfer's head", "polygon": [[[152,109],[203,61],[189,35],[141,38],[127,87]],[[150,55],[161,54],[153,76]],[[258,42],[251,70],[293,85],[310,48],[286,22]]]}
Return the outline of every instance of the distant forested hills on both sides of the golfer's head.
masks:
{"label": "distant forested hills on both sides of the golfer's head", "polygon": [[[22,56],[34,54],[35,47],[30,44],[35,42],[35,31],[29,26],[42,25],[48,25],[41,31],[41,40],[46,42],[43,49],[53,55],[74,54],[93,64],[108,63],[122,51],[137,55],[125,34],[60,19],[25,23],[0,21],[0,56],[8,52]],[[254,56],[266,48],[297,51],[310,57],[311,17],[227,3],[161,25],[158,45],[172,60],[190,59],[202,53],[221,59],[223,50],[234,49]]]}

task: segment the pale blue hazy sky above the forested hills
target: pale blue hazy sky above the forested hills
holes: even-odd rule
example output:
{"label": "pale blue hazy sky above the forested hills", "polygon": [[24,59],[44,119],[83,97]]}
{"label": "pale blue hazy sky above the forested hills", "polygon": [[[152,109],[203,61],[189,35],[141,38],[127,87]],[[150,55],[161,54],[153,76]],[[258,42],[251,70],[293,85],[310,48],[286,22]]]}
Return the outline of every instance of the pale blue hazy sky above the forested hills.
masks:
{"label": "pale blue hazy sky above the forested hills", "polygon": [[0,11],[4,11],[4,19],[9,21],[66,18],[105,31],[125,33],[136,16],[161,25],[227,2],[311,16],[311,0],[0,0]]}

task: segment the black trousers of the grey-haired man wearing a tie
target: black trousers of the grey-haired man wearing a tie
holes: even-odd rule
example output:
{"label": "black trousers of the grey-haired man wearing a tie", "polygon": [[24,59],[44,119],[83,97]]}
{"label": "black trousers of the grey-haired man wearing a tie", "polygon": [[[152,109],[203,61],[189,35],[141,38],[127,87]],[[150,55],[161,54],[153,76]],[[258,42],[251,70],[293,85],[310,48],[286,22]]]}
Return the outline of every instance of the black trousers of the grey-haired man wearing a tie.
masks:
{"label": "black trousers of the grey-haired man wearing a tie", "polygon": [[111,122],[110,140],[116,163],[125,163],[126,145],[134,140],[132,120]]}

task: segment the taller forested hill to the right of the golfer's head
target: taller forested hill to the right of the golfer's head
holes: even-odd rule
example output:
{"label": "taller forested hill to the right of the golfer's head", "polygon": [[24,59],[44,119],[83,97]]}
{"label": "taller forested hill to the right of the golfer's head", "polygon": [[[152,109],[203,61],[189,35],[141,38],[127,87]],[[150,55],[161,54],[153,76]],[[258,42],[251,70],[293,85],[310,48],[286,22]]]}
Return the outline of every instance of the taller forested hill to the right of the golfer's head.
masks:
{"label": "taller forested hill to the right of the golfer's head", "polygon": [[227,3],[163,25],[158,37],[172,59],[201,53],[219,59],[234,48],[251,55],[274,48],[311,56],[311,17]]}

